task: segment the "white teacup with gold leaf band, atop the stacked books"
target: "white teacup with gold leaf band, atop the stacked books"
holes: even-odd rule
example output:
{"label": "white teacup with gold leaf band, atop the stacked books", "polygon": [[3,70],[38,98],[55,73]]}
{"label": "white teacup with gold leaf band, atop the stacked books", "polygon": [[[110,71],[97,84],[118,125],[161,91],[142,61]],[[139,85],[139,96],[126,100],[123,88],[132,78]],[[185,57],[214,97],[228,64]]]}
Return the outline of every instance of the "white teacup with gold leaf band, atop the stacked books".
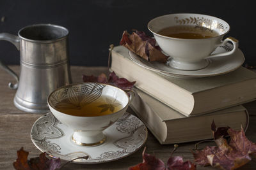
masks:
{"label": "white teacup with gold leaf band, atop the stacked books", "polygon": [[[159,31],[162,29],[178,25],[189,25],[196,29],[200,28],[205,31],[205,33],[214,31],[217,34],[211,38],[200,39],[172,38],[159,34]],[[223,36],[230,30],[230,26],[227,22],[209,15],[194,13],[163,15],[150,20],[150,22],[148,22],[148,29],[154,34],[163,52],[172,57],[169,66],[176,69],[202,69],[209,64],[208,58],[231,55],[236,52],[238,48],[237,39],[229,37],[222,40]],[[218,46],[224,46],[228,41],[234,45],[234,48],[230,52],[211,54]]]}

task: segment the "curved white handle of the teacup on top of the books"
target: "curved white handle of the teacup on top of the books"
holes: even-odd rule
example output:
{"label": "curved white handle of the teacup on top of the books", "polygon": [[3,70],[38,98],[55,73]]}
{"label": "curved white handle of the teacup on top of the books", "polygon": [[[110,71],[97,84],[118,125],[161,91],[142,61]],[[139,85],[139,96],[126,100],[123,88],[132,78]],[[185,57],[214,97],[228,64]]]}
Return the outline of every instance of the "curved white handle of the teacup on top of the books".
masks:
{"label": "curved white handle of the teacup on top of the books", "polygon": [[238,48],[238,40],[234,37],[228,37],[226,39],[224,39],[220,45],[218,46],[225,46],[228,42],[231,42],[233,44],[233,49],[229,52],[223,52],[223,53],[216,53],[216,54],[212,54],[212,55],[209,55],[208,57],[206,58],[212,58],[212,57],[221,57],[221,56],[225,56],[225,55],[231,55],[232,53],[235,53],[237,48]]}

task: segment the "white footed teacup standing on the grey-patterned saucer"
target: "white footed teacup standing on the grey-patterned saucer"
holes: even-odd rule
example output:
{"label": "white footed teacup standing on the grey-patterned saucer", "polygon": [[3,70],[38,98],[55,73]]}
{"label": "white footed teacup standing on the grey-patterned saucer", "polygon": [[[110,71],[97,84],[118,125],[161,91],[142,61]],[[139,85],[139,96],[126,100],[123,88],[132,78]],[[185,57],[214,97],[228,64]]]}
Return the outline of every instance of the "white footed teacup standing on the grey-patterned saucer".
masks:
{"label": "white footed teacup standing on the grey-patterned saucer", "polygon": [[[130,94],[130,97],[127,93]],[[118,101],[122,107],[111,114],[100,116],[86,117],[63,113],[65,112],[63,110],[70,108],[83,108],[86,104],[99,100],[100,97],[113,99],[113,101],[107,99],[106,102],[110,104],[109,107],[115,108],[115,101]],[[102,83],[79,83],[54,90],[48,97],[48,105],[54,117],[73,129],[74,134],[70,138],[74,143],[81,146],[95,146],[104,143],[106,136],[102,131],[124,115],[133,98],[134,92],[132,90],[122,90]],[[65,102],[63,103],[63,101]],[[104,110],[106,111],[106,109]]]}

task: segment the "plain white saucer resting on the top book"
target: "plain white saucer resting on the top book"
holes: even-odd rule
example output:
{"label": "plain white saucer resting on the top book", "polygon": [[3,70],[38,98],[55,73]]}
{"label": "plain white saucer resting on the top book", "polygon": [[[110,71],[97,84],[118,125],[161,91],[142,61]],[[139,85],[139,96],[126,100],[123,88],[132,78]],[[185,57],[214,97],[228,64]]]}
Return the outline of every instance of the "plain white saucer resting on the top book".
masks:
{"label": "plain white saucer resting on the top book", "polygon": [[[232,50],[232,45],[227,44],[226,46],[219,46],[213,53],[220,53]],[[220,74],[226,74],[230,71],[234,71],[239,68],[244,62],[244,55],[241,50],[237,50],[232,55],[223,57],[212,57],[209,60],[209,65],[203,69],[195,71],[186,71],[175,69],[161,62],[148,62],[141,58],[135,53],[129,51],[129,56],[139,66],[145,67],[146,69],[156,71],[157,73],[164,74],[166,76],[172,76],[177,78],[202,78],[207,76],[217,76]]]}

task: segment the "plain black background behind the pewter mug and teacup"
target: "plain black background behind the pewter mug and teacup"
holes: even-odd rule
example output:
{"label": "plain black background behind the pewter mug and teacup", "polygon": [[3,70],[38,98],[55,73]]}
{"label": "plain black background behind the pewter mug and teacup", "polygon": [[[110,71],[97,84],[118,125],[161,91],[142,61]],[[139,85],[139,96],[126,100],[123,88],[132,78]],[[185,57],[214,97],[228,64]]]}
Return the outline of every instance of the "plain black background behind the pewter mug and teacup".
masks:
{"label": "plain black background behind the pewter mug and teacup", "polygon": [[[107,66],[108,48],[119,45],[122,32],[145,31],[154,17],[169,13],[202,13],[221,18],[231,27],[227,36],[239,39],[246,63],[256,66],[255,5],[249,1],[134,1],[134,0],[0,0],[0,32],[16,34],[31,24],[50,23],[70,31],[70,64]],[[253,2],[253,1],[252,1]],[[7,41],[0,41],[0,59],[19,64],[19,52]]]}

